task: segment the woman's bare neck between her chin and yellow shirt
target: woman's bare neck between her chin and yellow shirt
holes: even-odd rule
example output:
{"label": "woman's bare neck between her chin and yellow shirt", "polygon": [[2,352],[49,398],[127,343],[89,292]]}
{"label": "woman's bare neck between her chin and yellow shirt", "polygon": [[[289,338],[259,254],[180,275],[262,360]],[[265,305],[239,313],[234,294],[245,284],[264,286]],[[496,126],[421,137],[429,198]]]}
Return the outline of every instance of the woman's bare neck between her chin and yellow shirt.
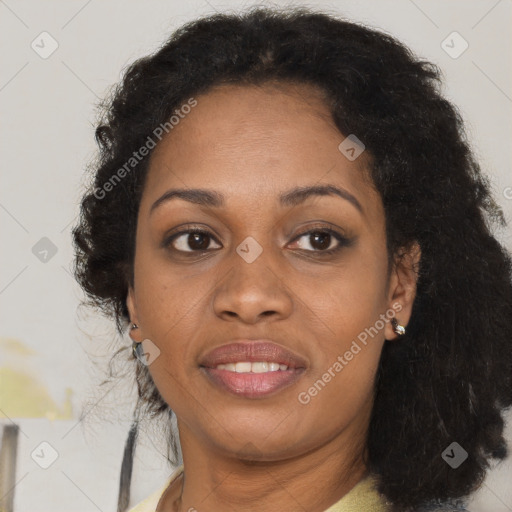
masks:
{"label": "woman's bare neck between her chin and yellow shirt", "polygon": [[364,442],[355,443],[349,428],[321,447],[280,460],[265,460],[251,443],[236,454],[222,453],[184,426],[180,442],[185,474],[157,512],[323,512],[368,474]]}

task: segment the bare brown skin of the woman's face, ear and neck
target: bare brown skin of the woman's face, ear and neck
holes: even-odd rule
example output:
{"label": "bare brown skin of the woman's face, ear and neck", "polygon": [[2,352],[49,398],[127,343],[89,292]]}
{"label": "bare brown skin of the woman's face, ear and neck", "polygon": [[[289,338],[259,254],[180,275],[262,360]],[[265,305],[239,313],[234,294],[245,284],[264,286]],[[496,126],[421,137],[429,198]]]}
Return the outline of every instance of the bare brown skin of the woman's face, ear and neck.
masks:
{"label": "bare brown skin of the woman's face, ear and neck", "polygon": [[[375,374],[384,343],[397,337],[391,323],[309,403],[298,395],[393,304],[407,325],[420,250],[406,251],[388,279],[385,216],[365,173],[368,157],[349,161],[338,150],[345,137],[316,89],[223,85],[197,102],[151,155],[127,297],[139,326],[132,338],[160,350],[148,368],[177,415],[185,465],[157,510],[322,512],[367,474]],[[327,184],[347,190],[362,212],[335,195],[279,205],[293,187]],[[212,189],[226,202],[175,198],[150,212],[171,188]],[[198,244],[187,235],[174,249],[161,246],[185,223],[211,233],[199,243],[210,252],[191,252]],[[352,244],[322,256],[337,240],[322,246],[302,233],[325,227]],[[263,249],[250,264],[236,252],[248,236]],[[263,399],[222,391],[198,361],[238,337],[273,339],[300,354],[306,371]]]}

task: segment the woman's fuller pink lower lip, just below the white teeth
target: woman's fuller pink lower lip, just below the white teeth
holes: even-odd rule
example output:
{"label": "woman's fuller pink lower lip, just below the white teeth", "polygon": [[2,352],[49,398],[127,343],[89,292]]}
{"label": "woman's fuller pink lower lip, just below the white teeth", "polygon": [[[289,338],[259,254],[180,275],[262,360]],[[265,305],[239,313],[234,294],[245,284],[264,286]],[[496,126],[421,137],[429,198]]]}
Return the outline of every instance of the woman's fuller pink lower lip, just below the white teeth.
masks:
{"label": "woman's fuller pink lower lip, just below the white teeth", "polygon": [[266,373],[236,373],[201,367],[210,381],[219,388],[245,398],[265,398],[291,386],[304,368],[277,370]]}

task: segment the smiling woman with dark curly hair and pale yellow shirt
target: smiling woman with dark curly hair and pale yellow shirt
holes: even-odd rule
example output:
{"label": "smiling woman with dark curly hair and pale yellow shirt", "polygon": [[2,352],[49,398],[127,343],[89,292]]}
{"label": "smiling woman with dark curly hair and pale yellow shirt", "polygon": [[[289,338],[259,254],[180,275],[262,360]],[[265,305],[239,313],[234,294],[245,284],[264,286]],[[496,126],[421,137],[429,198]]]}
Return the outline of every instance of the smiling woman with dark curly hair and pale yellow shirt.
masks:
{"label": "smiling woman with dark curly hair and pale yellow shirt", "polygon": [[137,419],[178,425],[134,511],[465,510],[506,456],[512,263],[438,80],[307,9],[199,19],[128,69],[74,240]]}

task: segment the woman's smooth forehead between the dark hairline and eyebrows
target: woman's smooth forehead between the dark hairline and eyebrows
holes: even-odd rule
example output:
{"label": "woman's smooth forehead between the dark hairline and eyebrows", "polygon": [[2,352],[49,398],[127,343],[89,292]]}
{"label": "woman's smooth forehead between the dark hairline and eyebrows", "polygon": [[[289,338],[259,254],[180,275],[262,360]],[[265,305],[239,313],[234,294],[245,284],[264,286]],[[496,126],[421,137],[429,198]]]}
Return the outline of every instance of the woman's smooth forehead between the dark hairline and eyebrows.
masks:
{"label": "woman's smooth forehead between the dark hairline and eyebrows", "polygon": [[368,180],[368,158],[363,153],[350,161],[340,152],[345,136],[320,90],[222,85],[195,99],[154,149],[143,202],[169,188],[207,188],[238,207],[246,194],[275,200],[292,185],[333,184],[374,209],[378,194]]}

